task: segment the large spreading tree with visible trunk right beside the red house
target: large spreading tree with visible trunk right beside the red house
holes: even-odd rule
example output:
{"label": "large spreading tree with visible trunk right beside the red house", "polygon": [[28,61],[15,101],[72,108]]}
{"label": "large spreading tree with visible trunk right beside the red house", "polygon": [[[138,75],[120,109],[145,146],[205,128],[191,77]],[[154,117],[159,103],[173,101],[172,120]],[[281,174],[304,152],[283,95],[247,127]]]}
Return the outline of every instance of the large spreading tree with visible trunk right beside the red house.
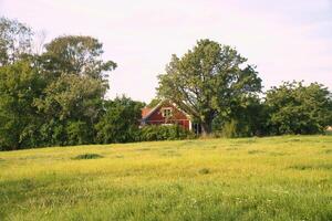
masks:
{"label": "large spreading tree with visible trunk right beside the red house", "polygon": [[231,103],[260,92],[255,67],[235,49],[200,40],[181,59],[176,55],[158,76],[158,95],[172,99],[196,118],[203,134],[211,131],[214,118],[228,114]]}

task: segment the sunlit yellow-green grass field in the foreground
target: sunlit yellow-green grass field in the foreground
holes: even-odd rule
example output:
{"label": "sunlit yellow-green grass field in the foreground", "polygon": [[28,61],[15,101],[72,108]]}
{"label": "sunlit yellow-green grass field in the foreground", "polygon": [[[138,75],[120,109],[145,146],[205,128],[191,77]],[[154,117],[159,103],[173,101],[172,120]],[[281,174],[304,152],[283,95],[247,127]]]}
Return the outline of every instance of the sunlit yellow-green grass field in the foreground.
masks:
{"label": "sunlit yellow-green grass field in the foreground", "polygon": [[332,220],[332,136],[0,152],[0,207],[1,221]]}

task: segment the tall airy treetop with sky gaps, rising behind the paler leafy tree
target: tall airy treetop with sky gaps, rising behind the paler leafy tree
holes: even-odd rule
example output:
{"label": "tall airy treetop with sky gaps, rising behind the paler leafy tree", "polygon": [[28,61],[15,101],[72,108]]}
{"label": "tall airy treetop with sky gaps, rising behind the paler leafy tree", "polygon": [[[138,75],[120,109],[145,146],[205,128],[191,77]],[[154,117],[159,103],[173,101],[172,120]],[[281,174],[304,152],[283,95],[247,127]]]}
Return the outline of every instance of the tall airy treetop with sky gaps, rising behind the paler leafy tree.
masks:
{"label": "tall airy treetop with sky gaps, rising behind the paler leafy tree", "polygon": [[44,66],[52,65],[58,72],[90,76],[105,81],[107,85],[107,72],[114,70],[116,64],[102,60],[103,44],[91,36],[60,36],[45,45],[46,52]]}

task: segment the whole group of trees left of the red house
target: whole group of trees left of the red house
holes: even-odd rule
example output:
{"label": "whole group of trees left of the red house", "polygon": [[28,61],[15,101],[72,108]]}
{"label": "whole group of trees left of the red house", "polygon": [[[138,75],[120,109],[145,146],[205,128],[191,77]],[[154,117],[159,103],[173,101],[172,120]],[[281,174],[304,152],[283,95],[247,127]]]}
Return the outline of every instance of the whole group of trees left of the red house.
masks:
{"label": "whole group of trees left of the red house", "polygon": [[103,48],[91,36],[59,36],[33,51],[27,25],[0,19],[0,149],[136,141],[141,102],[106,101]]}

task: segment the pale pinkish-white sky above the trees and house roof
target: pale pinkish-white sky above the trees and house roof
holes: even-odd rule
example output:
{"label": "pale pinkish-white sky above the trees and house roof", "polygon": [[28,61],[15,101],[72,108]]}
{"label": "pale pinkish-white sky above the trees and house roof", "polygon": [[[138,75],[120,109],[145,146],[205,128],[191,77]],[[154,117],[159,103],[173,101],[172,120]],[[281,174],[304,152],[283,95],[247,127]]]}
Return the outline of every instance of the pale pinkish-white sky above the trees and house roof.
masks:
{"label": "pale pinkish-white sky above the trees and house roof", "polygon": [[264,90],[292,80],[332,90],[332,0],[0,0],[0,15],[45,33],[46,42],[98,39],[104,59],[118,65],[110,98],[148,102],[172,54],[199,39],[236,48],[257,65]]}

